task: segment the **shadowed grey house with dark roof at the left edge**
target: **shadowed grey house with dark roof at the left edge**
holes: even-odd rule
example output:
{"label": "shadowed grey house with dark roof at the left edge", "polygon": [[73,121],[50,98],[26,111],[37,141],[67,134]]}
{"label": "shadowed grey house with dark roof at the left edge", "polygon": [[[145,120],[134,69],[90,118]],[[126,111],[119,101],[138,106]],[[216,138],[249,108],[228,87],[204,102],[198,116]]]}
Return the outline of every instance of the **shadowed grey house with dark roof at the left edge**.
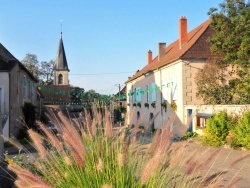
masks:
{"label": "shadowed grey house with dark roof at the left edge", "polygon": [[18,135],[24,104],[37,105],[36,87],[34,76],[0,43],[0,121],[5,137]]}

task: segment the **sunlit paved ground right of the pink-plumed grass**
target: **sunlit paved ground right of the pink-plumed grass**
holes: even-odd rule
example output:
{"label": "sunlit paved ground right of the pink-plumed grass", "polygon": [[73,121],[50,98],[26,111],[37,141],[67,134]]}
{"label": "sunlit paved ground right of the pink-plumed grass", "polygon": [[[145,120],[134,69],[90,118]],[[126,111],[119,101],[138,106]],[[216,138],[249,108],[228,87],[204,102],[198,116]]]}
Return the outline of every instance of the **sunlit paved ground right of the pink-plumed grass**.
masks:
{"label": "sunlit paved ground right of the pink-plumed grass", "polygon": [[[205,163],[211,154],[218,152],[218,157],[209,163],[210,165],[207,166],[206,172],[212,175],[216,172],[225,171],[222,184],[228,185],[230,181],[240,179],[234,187],[250,188],[250,151],[233,150],[226,147],[218,149],[204,146],[200,142],[192,140],[175,142],[173,143],[173,146],[177,144],[184,145],[185,157],[194,154],[194,156],[197,156],[201,163]],[[238,163],[236,163],[235,160],[246,155],[248,155],[247,158],[241,159]]]}

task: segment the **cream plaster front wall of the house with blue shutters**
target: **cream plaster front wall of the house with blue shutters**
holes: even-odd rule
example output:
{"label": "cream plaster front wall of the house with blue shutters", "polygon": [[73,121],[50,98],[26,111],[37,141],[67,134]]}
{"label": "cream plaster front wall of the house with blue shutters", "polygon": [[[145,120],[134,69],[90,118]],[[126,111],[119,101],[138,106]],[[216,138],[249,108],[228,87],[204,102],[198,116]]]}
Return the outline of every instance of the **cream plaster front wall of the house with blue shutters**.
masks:
{"label": "cream plaster front wall of the house with blue shutters", "polygon": [[[167,120],[170,118],[172,114],[172,109],[170,108],[170,103],[172,101],[171,97],[171,90],[172,87],[169,87],[166,89],[167,92],[167,100],[168,103],[167,110],[165,110],[161,107],[161,103],[164,101],[162,96],[163,88],[166,87],[167,83],[171,83],[173,78],[176,79],[177,82],[177,117],[174,121],[174,124],[177,126],[181,126],[183,122],[183,83],[182,83],[182,62],[178,61],[175,63],[172,63],[171,65],[165,66],[161,69],[155,70],[150,75],[141,76],[129,83],[127,83],[127,94],[134,90],[134,88],[141,87],[142,90],[146,89],[146,85],[149,85],[149,88],[151,89],[151,84],[156,83],[157,86],[162,86],[161,89],[156,91],[156,107],[151,107],[152,103],[152,92],[149,92],[149,108],[145,108],[144,104],[146,102],[146,93],[142,94],[142,100],[141,100],[141,108],[136,106],[133,107],[134,103],[134,96],[128,97],[127,102],[130,103],[130,106],[127,109],[127,112],[129,114],[129,119],[131,123],[136,122],[136,112],[139,111],[140,114],[143,116],[142,118],[142,125],[146,126],[149,122],[149,116],[150,113],[153,113],[156,115],[159,112],[159,115],[154,121],[155,128],[162,128]],[[133,115],[132,115],[133,114]],[[181,132],[181,130],[177,130],[177,132]],[[179,134],[177,133],[177,134]]]}

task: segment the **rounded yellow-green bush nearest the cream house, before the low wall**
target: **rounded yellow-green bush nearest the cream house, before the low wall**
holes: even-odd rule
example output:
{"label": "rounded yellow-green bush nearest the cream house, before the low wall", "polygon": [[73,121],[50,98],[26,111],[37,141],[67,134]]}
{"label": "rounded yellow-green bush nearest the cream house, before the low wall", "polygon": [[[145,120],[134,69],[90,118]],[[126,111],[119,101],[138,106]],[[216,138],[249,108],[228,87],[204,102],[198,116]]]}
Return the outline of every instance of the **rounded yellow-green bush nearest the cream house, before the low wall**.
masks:
{"label": "rounded yellow-green bush nearest the cream house, before the low wall", "polygon": [[203,130],[203,141],[211,146],[221,146],[226,143],[229,133],[229,118],[226,111],[221,111],[212,116]]}

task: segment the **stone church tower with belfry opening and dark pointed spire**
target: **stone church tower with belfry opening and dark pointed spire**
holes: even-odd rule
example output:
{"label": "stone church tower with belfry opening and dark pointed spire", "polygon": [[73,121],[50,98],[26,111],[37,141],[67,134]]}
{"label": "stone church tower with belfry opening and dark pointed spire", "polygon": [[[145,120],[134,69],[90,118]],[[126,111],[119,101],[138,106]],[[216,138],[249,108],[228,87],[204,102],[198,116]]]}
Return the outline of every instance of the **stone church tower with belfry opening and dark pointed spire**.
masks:
{"label": "stone church tower with belfry opening and dark pointed spire", "polygon": [[69,85],[69,68],[63,46],[62,32],[53,71],[54,85]]}

